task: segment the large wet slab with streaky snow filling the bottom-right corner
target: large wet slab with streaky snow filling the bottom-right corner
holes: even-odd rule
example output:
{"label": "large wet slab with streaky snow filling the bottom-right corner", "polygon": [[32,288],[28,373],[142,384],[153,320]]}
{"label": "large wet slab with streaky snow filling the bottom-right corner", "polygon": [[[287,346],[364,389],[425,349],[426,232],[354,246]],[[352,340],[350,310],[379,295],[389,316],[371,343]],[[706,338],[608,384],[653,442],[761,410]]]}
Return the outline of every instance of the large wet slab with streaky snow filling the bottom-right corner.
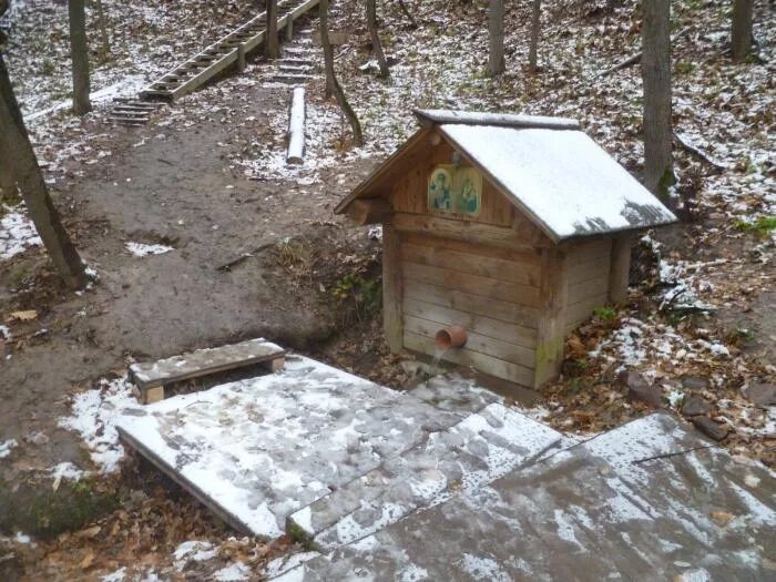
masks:
{"label": "large wet slab with streaky snow filling the bottom-right corner", "polygon": [[277,580],[767,580],[775,483],[652,415]]}

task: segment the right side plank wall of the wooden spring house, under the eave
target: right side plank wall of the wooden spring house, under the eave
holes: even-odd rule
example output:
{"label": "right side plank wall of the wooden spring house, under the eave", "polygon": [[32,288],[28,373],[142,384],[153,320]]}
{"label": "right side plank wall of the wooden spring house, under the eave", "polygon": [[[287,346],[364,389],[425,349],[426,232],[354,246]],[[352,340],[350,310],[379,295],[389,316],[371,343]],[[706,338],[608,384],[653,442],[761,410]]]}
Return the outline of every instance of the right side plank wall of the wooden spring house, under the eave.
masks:
{"label": "right side plank wall of the wooden spring house, under the eave", "polygon": [[569,251],[566,334],[609,302],[611,253],[611,238],[581,243]]}

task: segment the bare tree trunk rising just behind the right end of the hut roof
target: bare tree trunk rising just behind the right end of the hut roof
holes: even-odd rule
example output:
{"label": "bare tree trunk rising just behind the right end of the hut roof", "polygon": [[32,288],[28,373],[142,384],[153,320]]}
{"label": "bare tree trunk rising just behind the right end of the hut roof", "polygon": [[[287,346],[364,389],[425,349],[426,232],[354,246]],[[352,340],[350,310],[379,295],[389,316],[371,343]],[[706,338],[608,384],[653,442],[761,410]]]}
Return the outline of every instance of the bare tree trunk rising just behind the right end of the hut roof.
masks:
{"label": "bare tree trunk rising just behind the right end of the hut roof", "polygon": [[644,185],[667,201],[674,182],[671,152],[671,1],[642,2]]}

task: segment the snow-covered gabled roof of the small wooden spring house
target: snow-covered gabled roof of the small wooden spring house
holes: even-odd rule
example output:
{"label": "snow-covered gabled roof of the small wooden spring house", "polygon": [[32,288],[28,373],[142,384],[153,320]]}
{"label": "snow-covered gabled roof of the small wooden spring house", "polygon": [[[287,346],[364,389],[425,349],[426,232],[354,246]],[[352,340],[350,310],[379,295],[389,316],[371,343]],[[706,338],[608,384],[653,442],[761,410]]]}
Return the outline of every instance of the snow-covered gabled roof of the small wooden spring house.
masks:
{"label": "snow-covered gabled roof of the small wooden spring house", "polygon": [[647,228],[676,221],[602,147],[562,118],[416,111],[420,130],[336,208],[345,212],[429,126],[478,167],[550,238]]}

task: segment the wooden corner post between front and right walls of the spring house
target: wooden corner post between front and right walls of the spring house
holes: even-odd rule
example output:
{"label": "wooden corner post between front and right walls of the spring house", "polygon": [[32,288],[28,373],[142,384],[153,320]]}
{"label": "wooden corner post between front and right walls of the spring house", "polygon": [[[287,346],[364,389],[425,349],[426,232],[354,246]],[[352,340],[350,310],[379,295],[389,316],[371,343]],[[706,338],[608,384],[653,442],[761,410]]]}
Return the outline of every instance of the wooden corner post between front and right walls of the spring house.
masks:
{"label": "wooden corner post between front and right walls of the spring house", "polygon": [[555,248],[541,251],[541,293],[537,330],[537,359],[533,387],[539,388],[558,376],[563,363],[569,294],[568,263]]}

